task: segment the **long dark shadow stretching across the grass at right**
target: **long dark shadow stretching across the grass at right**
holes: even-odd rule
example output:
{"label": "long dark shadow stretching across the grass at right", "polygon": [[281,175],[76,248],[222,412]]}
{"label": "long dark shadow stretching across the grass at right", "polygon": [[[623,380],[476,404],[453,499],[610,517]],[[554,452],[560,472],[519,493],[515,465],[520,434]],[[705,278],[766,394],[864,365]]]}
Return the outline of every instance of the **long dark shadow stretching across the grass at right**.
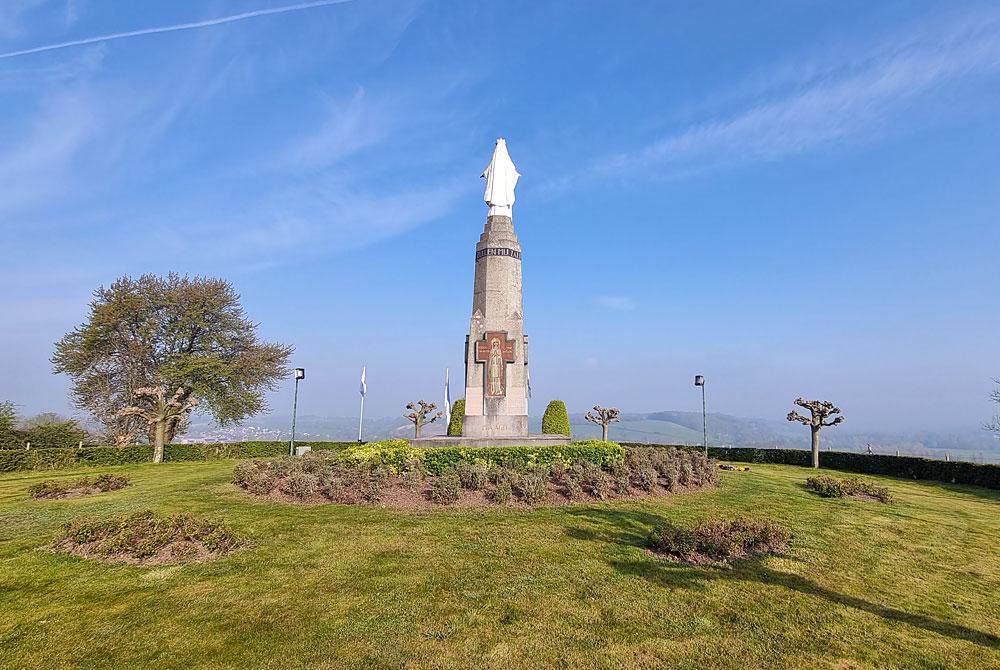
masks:
{"label": "long dark shadow stretching across the grass at right", "polygon": [[[567,530],[573,538],[641,548],[646,548],[649,534],[667,521],[656,514],[632,510],[591,508],[573,510],[571,514],[586,524]],[[640,577],[663,588],[704,589],[717,581],[757,582],[782,587],[822,598],[829,603],[851,607],[886,621],[908,624],[952,639],[1000,650],[1000,636],[993,633],[839,593],[801,575],[769,568],[759,560],[739,561],[728,568],[695,567],[652,556],[645,560],[611,560],[609,563],[622,574]]]}

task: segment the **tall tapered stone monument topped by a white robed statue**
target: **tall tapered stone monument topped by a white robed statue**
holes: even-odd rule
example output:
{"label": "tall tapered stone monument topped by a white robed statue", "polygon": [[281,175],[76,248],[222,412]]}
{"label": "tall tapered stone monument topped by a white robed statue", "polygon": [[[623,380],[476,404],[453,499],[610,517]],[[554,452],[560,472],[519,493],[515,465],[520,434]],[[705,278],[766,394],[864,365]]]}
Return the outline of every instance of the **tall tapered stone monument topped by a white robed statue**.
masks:
{"label": "tall tapered stone monument topped by a white robed statue", "polygon": [[521,300],[521,245],[511,209],[517,185],[507,143],[498,139],[482,177],[490,210],[476,245],[472,320],[465,341],[462,436],[528,436],[528,337]]}

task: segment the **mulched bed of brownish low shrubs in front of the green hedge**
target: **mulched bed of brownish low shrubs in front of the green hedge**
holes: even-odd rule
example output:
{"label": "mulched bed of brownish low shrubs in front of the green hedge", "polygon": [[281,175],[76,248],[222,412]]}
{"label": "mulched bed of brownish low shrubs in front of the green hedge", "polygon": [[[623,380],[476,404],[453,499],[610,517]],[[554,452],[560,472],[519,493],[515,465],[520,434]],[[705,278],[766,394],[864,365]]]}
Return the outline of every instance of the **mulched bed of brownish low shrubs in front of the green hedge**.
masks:
{"label": "mulched bed of brownish low shrubs in front of the green hedge", "polygon": [[700,452],[633,448],[610,463],[555,460],[506,467],[461,460],[436,475],[417,458],[394,471],[338,455],[307,454],[239,463],[233,483],[270,500],[424,509],[642,499],[714,488],[718,475],[715,462]]}

